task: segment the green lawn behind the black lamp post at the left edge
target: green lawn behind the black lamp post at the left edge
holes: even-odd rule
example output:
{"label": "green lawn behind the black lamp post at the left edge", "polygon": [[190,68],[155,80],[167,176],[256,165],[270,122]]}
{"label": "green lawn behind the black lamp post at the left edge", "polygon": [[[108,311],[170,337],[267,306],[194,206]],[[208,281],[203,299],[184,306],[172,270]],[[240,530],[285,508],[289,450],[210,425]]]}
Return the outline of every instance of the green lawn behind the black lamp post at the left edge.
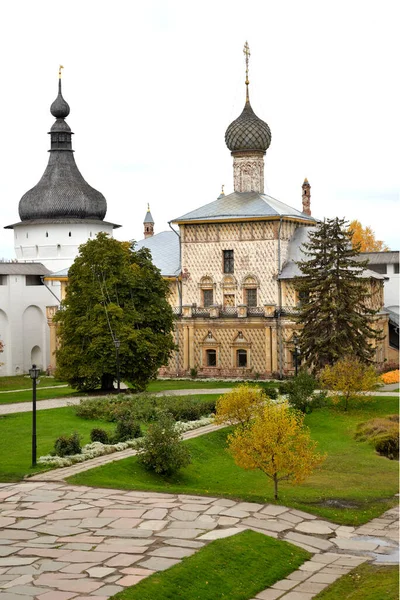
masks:
{"label": "green lawn behind the black lamp post at the left edge", "polygon": [[[75,415],[74,407],[54,408],[37,412],[37,456],[49,454],[60,435],[77,431],[82,443],[90,442],[90,431],[101,427],[107,431],[114,423],[87,421]],[[0,417],[0,481],[18,481],[28,473],[41,470],[31,468],[32,413],[20,413]]]}

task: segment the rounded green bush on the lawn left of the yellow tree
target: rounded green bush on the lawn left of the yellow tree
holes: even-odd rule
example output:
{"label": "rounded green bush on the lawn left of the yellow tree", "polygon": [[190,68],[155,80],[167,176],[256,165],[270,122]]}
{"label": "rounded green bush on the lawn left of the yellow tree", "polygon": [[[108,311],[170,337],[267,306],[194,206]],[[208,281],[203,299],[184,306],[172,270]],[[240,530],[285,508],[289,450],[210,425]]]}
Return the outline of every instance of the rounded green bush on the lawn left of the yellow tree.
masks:
{"label": "rounded green bush on the lawn left of the yellow tree", "polygon": [[173,417],[160,413],[156,423],[149,426],[147,435],[138,442],[139,461],[149,471],[171,475],[190,464],[189,449],[181,442]]}

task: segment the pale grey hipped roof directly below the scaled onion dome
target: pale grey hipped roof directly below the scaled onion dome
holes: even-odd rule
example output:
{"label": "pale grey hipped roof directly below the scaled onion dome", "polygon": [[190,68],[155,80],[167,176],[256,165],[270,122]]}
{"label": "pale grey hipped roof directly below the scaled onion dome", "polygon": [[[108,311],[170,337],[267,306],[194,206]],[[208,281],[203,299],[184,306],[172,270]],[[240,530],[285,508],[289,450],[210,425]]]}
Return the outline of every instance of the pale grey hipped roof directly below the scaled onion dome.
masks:
{"label": "pale grey hipped roof directly below the scaled onion dome", "polygon": [[315,219],[299,210],[258,192],[233,192],[220,196],[214,202],[173,219],[173,223],[191,221],[226,221],[291,217],[315,223]]}

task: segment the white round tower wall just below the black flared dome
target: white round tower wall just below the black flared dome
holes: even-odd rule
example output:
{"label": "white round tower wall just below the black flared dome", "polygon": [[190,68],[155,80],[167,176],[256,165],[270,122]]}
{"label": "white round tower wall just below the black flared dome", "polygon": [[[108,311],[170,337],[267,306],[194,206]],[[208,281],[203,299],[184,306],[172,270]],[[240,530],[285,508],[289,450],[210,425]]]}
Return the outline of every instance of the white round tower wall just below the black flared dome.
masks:
{"label": "white round tower wall just below the black flared dome", "polygon": [[112,236],[111,223],[28,222],[14,226],[15,254],[20,262],[40,262],[52,272],[67,269],[79,253],[79,246],[104,231]]}

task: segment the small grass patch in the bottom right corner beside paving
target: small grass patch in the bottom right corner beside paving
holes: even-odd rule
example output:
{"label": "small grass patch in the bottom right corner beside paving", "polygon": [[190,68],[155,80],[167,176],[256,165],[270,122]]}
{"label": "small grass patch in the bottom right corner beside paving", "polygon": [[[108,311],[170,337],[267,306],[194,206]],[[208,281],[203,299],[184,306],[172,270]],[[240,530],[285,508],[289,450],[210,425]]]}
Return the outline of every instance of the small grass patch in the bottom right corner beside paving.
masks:
{"label": "small grass patch in the bottom right corner beside paving", "polygon": [[314,600],[398,600],[399,569],[362,564],[344,575]]}

